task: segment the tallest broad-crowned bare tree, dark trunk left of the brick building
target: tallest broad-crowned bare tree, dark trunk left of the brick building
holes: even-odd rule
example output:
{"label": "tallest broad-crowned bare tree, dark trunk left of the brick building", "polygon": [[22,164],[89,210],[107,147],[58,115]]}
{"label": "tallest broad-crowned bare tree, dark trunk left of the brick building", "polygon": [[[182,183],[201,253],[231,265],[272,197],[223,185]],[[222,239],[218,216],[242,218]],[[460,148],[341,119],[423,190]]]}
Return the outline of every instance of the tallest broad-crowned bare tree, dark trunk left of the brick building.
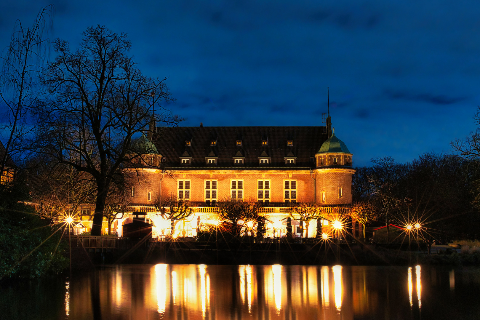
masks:
{"label": "tallest broad-crowned bare tree, dark trunk left of the brick building", "polygon": [[93,177],[92,235],[99,236],[112,181],[125,163],[142,156],[133,150],[132,139],[145,130],[154,110],[155,120],[164,125],[182,119],[160,105],[171,100],[165,79],[146,77],[137,69],[126,34],[97,25],[87,28],[76,50],[65,40],[53,44],[58,56],[43,74],[49,97],[36,109],[33,150]]}

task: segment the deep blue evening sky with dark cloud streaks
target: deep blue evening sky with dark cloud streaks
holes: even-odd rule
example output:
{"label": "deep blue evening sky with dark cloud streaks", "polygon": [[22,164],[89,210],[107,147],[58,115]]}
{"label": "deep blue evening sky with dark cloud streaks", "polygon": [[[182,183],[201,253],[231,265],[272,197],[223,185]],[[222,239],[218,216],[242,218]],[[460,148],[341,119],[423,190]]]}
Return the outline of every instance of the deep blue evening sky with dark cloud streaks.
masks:
{"label": "deep blue evening sky with dark cloud streaks", "polygon": [[[0,2],[0,47],[16,19],[50,2]],[[168,107],[198,126],[322,125],[354,165],[405,162],[475,130],[480,4],[466,0],[57,1],[52,38],[87,26],[128,33],[147,75],[168,76]]]}

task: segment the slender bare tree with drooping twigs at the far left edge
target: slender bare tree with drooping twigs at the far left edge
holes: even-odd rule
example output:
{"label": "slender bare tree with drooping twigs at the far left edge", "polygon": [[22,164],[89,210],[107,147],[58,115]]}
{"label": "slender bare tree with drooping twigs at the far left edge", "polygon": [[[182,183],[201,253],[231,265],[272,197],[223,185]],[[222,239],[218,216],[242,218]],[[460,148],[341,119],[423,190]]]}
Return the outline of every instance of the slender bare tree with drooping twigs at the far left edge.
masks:
{"label": "slender bare tree with drooping twigs at the far left edge", "polygon": [[7,174],[7,167],[12,164],[10,158],[22,154],[26,137],[34,127],[28,112],[42,94],[38,74],[50,47],[46,35],[53,10],[53,5],[42,8],[31,27],[17,21],[10,45],[1,57],[0,102],[6,112],[0,128],[0,137],[5,139],[5,150],[0,150],[0,177]]}

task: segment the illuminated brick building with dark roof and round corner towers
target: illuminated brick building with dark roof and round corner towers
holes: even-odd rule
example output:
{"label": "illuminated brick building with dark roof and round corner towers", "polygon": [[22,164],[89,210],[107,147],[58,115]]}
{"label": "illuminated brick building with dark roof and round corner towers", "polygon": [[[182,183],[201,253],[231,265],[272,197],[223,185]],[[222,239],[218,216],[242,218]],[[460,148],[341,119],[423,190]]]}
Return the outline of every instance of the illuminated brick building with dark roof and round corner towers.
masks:
{"label": "illuminated brick building with dark roof and round corner towers", "polygon": [[[329,214],[346,212],[352,203],[352,154],[331,130],[330,117],[324,127],[150,130],[154,133],[140,140],[150,153],[137,165],[141,178],[131,188],[129,211],[155,224],[154,236],[168,233],[170,226],[156,214],[154,203],[171,195],[191,201],[194,214],[175,223],[175,232],[186,237],[214,218],[217,201],[228,198],[263,202],[261,214],[270,221],[287,217],[292,202],[314,201]],[[115,224],[119,234],[124,220]],[[299,222],[292,225],[295,234]],[[315,232],[311,227],[308,236]]]}

